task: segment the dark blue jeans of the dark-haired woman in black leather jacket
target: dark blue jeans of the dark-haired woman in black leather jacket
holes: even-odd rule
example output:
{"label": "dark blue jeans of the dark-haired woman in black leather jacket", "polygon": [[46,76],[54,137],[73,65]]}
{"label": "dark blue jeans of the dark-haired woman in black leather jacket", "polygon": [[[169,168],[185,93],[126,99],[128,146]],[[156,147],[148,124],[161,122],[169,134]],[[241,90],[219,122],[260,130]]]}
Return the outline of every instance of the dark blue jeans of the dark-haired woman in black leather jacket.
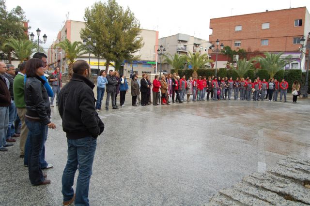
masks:
{"label": "dark blue jeans of the dark-haired woman in black leather jacket", "polygon": [[[28,171],[29,179],[32,185],[38,185],[44,181],[43,173],[40,166],[40,153],[43,142],[45,142],[47,125],[42,122],[34,122],[25,119],[29,129],[29,151],[28,151]],[[27,139],[28,140],[28,139]],[[26,155],[25,155],[26,157]]]}

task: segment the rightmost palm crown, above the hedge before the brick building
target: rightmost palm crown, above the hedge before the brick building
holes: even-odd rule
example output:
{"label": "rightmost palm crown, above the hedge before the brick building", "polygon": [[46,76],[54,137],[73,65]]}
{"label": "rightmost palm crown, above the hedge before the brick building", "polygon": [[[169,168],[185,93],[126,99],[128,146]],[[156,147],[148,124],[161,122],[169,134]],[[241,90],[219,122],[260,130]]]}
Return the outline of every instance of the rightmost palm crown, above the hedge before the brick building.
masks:
{"label": "rightmost palm crown, above the hedge before the brick building", "polygon": [[261,64],[261,67],[268,71],[270,78],[273,78],[275,74],[279,72],[279,70],[282,70],[285,67],[285,65],[292,62],[291,55],[281,58],[283,52],[280,53],[265,52],[263,54],[265,55],[265,58],[257,57],[256,59]]}

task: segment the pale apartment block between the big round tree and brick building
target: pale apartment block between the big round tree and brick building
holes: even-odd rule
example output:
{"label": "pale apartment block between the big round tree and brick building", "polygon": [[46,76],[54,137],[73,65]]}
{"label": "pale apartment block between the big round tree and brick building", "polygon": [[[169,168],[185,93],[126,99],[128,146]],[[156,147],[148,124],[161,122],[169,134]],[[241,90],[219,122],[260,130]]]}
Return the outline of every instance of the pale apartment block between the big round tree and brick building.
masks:
{"label": "pale apartment block between the big round tree and brick building", "polygon": [[[160,38],[158,40],[158,45],[163,45],[163,47],[166,49],[166,54],[171,55],[176,53],[180,55],[187,55],[188,52],[208,54],[209,46],[211,46],[207,40],[181,33]],[[160,63],[159,59],[158,62]],[[188,67],[190,68],[190,65],[188,65]],[[167,63],[163,63],[162,70],[170,71],[171,66]]]}

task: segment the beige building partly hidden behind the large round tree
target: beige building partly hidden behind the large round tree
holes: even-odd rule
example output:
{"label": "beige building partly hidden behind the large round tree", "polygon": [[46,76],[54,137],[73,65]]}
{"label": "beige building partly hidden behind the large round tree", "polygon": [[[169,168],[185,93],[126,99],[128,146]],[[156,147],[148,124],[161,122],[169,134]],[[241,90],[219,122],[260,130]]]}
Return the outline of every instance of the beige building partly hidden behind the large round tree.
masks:
{"label": "beige building partly hidden behind the large round tree", "polygon": [[[55,45],[65,39],[68,39],[71,42],[82,42],[83,40],[80,38],[80,31],[83,28],[85,28],[85,22],[66,20],[63,28],[58,32],[56,41],[53,42],[48,49],[47,53],[50,67],[58,66],[62,68],[62,72],[68,71],[69,61],[65,59],[64,51],[61,48],[56,49]],[[141,74],[142,71],[148,73],[153,72],[155,65],[153,62],[154,45],[158,44],[158,31],[141,29],[140,35],[137,38],[143,39],[143,46],[134,54],[135,56],[139,56],[139,61],[132,63],[127,61],[124,62],[121,73],[124,73],[126,76],[129,76],[133,71],[138,72],[139,74]],[[78,59],[89,61],[89,54],[81,55],[77,60]],[[115,70],[113,67],[114,62],[110,62],[110,64],[109,69]],[[92,73],[98,74],[100,70],[106,69],[106,59],[97,58],[91,54],[90,66]]]}

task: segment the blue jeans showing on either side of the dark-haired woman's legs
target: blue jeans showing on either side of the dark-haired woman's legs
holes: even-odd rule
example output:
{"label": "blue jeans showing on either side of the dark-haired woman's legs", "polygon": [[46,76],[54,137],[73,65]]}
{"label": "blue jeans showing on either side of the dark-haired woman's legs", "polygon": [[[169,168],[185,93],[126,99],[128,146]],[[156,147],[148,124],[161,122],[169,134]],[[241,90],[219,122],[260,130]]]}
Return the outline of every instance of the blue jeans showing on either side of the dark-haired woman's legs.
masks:
{"label": "blue jeans showing on either side of the dark-haired woman's legs", "polygon": [[[26,121],[26,120],[25,120]],[[28,126],[27,126],[28,127]],[[28,128],[29,129],[29,128]],[[45,161],[45,143],[47,141],[47,132],[48,127],[45,128],[44,138],[42,141],[42,146],[40,148],[40,168],[46,168],[48,163]],[[26,144],[25,144],[25,157],[24,157],[24,165],[28,165],[29,161],[29,154],[30,154],[30,142],[31,142],[31,131],[29,130]]]}

